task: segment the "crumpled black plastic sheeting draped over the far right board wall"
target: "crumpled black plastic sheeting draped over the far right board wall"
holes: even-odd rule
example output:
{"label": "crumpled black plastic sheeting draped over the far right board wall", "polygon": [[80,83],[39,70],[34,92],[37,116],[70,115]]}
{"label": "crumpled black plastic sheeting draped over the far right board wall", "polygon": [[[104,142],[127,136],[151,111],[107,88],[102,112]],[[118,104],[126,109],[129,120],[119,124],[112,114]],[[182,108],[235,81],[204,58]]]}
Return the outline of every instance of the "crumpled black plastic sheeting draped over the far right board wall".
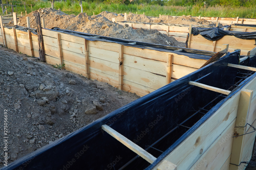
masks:
{"label": "crumpled black plastic sheeting draped over the far right board wall", "polygon": [[193,35],[202,35],[207,40],[216,41],[225,35],[233,35],[245,40],[256,40],[256,32],[224,31],[219,28],[192,28]]}

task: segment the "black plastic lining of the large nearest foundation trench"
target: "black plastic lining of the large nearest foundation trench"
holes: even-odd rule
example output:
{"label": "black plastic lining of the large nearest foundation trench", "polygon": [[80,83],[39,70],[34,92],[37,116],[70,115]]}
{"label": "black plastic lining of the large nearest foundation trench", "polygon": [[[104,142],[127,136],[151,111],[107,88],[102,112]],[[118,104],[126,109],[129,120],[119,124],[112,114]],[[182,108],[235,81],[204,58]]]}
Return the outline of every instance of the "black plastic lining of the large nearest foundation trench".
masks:
{"label": "black plastic lining of the large nearest foundation trench", "polygon": [[[229,98],[189,81],[232,90],[240,50],[109,113],[4,169],[151,169]],[[252,75],[250,77],[255,77]],[[242,79],[244,80],[244,79]],[[238,81],[239,82],[239,81]],[[241,81],[240,81],[241,82]],[[209,111],[208,111],[209,110]],[[151,165],[101,129],[108,125],[157,158]]]}

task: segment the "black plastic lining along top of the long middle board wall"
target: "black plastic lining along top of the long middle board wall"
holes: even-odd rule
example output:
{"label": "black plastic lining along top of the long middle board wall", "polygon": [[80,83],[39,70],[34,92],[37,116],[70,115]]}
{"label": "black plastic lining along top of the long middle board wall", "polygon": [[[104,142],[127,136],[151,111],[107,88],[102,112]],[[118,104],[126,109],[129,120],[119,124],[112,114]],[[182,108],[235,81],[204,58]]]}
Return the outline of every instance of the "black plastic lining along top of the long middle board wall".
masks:
{"label": "black plastic lining along top of the long middle board wall", "polygon": [[[189,48],[182,48],[182,47],[174,47],[174,46],[168,46],[168,45],[160,45],[160,44],[152,44],[152,43],[144,43],[144,42],[138,42],[138,41],[130,41],[130,40],[123,40],[123,39],[118,39],[118,38],[112,38],[112,37],[105,37],[105,36],[100,36],[100,35],[94,35],[94,34],[88,34],[88,33],[83,33],[83,32],[77,32],[77,31],[69,31],[69,30],[62,30],[58,27],[54,27],[52,29],[48,29],[51,31],[57,31],[57,32],[62,32],[65,34],[70,34],[74,36],[79,36],[83,37],[86,40],[89,41],[105,41],[105,42],[115,42],[118,44],[122,44],[125,46],[133,46],[133,47],[139,47],[139,48],[145,48],[145,49],[153,49],[153,50],[158,50],[158,51],[167,51],[167,52],[172,52],[172,53],[177,53],[180,55],[187,55],[189,58],[196,58],[196,59],[205,59],[208,60],[209,57],[207,56],[213,56],[216,54],[215,52],[210,52],[210,51],[202,51],[202,50],[196,50],[196,49],[189,49]],[[129,44],[129,43],[134,43],[136,44]],[[182,50],[182,51],[175,51],[175,50]],[[187,53],[187,54],[184,54]]]}

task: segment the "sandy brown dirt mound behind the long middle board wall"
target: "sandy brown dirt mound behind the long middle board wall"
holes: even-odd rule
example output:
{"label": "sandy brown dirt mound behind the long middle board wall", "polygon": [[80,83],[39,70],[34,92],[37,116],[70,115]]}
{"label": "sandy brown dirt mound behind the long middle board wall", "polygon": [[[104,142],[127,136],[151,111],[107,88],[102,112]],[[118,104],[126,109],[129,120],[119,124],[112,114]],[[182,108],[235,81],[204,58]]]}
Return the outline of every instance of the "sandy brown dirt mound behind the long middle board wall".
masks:
{"label": "sandy brown dirt mound behind the long middle board wall", "polygon": [[[101,14],[94,16],[87,16],[85,13],[80,13],[75,16],[66,15],[60,10],[53,10],[51,8],[39,9],[38,11],[40,12],[40,17],[45,18],[46,28],[49,29],[59,27],[65,30],[79,31],[113,38],[185,47],[185,43],[178,42],[175,38],[161,34],[157,30],[134,30],[128,25],[123,26],[118,23],[114,23],[103,16],[106,15],[107,17],[112,18],[112,16],[115,16],[114,13],[102,12]],[[35,12],[37,11],[33,11],[27,15],[30,18],[31,28],[36,28],[35,16],[33,15]],[[19,22],[20,26],[26,27],[26,16],[20,18]]]}

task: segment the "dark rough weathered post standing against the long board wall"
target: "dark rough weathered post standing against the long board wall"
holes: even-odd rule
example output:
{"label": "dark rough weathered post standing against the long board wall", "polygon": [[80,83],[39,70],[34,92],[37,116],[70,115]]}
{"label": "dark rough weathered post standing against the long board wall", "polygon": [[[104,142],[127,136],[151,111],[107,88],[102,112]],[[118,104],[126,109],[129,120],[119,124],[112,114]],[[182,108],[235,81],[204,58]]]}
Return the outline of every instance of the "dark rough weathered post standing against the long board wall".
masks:
{"label": "dark rough weathered post standing against the long board wall", "polygon": [[39,12],[36,12],[35,16],[36,16],[37,37],[38,37],[38,46],[39,46],[39,50],[38,50],[39,51],[39,59],[40,59],[40,61],[45,62],[44,40],[43,40],[43,34],[42,34],[42,27],[41,27]]}

